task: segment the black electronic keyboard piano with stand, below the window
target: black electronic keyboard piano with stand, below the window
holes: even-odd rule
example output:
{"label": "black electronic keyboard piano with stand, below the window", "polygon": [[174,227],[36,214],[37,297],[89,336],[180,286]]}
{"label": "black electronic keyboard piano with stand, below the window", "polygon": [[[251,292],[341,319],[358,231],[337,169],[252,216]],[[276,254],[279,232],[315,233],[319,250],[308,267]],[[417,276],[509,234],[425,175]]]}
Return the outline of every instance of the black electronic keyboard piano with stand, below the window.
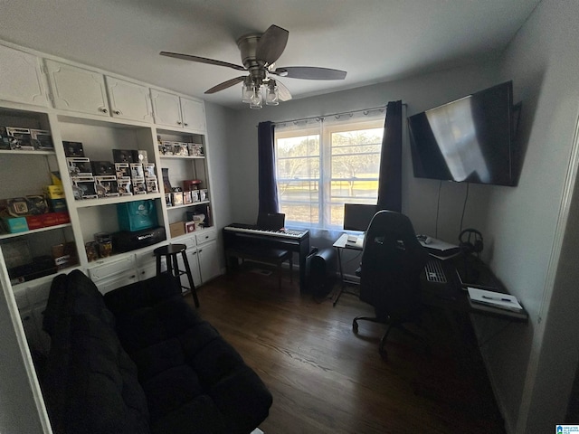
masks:
{"label": "black electronic keyboard piano with stand, below the window", "polygon": [[[309,253],[309,231],[270,231],[252,224],[232,223],[223,228],[225,250],[239,244],[262,245],[299,253],[299,290],[306,292],[306,257]],[[229,262],[230,259],[226,258]]]}

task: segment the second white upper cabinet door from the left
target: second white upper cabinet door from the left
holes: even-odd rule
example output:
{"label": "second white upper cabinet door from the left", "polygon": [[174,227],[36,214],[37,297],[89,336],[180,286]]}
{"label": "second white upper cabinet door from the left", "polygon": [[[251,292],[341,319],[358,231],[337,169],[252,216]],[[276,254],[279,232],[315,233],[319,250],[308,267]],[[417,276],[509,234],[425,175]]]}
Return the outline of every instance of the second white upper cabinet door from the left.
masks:
{"label": "second white upper cabinet door from the left", "polygon": [[98,72],[46,60],[56,109],[109,116],[104,76]]}

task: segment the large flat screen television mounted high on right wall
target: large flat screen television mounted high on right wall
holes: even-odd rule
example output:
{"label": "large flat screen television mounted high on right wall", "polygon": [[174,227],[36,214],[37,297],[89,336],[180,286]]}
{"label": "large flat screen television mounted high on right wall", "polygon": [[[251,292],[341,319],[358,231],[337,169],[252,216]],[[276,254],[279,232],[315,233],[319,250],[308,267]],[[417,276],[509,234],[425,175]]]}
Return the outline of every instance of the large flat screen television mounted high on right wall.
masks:
{"label": "large flat screen television mounted high on right wall", "polygon": [[408,118],[415,177],[516,185],[512,81]]}

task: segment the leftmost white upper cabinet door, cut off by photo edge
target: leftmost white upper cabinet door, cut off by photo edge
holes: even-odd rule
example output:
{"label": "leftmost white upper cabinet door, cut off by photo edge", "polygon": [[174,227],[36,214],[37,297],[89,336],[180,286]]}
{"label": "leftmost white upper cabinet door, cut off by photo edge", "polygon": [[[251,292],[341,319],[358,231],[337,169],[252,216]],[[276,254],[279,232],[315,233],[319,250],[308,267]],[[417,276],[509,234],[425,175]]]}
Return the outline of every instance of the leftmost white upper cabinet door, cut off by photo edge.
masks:
{"label": "leftmost white upper cabinet door, cut off by photo edge", "polygon": [[0,45],[0,99],[48,106],[40,60]]}

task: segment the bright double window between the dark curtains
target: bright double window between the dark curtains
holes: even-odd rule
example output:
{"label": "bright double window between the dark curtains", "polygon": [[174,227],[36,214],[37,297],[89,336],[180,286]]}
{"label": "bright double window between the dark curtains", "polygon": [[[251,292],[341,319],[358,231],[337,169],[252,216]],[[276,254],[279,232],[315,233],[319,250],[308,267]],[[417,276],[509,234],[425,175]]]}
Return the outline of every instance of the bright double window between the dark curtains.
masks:
{"label": "bright double window between the dark curtains", "polygon": [[344,203],[375,204],[382,116],[275,128],[280,212],[294,226],[342,229]]}

